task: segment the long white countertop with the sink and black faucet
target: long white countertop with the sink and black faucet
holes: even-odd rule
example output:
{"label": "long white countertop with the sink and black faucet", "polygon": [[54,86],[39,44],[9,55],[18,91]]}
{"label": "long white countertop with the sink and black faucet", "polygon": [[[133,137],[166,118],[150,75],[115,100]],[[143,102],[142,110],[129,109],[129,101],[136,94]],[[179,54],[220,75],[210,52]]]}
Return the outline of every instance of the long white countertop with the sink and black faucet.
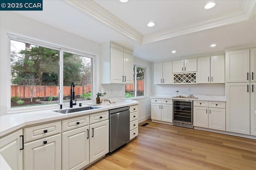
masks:
{"label": "long white countertop with the sink and black faucet", "polygon": [[[95,107],[100,107],[98,109],[77,111],[74,113],[67,113],[67,114],[55,112],[56,110],[59,110],[59,109],[51,109],[51,110],[43,110],[43,111],[30,111],[27,113],[14,113],[14,114],[2,115],[0,116],[0,137],[8,133],[11,133],[13,131],[16,131],[17,129],[20,129],[27,125],[33,125],[36,123],[43,123],[47,121],[55,121],[55,120],[58,121],[60,119],[72,118],[74,116],[79,116],[79,115],[90,115],[92,113],[108,111],[109,109],[115,109],[118,107],[132,106],[135,104],[138,104],[138,102],[135,100],[124,100],[124,101],[116,102],[116,104],[113,104],[113,105],[95,106]],[[86,107],[86,106],[82,106],[82,107]],[[78,108],[78,107],[79,106],[76,106],[73,108]],[[66,109],[66,108],[63,108],[63,109]]]}

